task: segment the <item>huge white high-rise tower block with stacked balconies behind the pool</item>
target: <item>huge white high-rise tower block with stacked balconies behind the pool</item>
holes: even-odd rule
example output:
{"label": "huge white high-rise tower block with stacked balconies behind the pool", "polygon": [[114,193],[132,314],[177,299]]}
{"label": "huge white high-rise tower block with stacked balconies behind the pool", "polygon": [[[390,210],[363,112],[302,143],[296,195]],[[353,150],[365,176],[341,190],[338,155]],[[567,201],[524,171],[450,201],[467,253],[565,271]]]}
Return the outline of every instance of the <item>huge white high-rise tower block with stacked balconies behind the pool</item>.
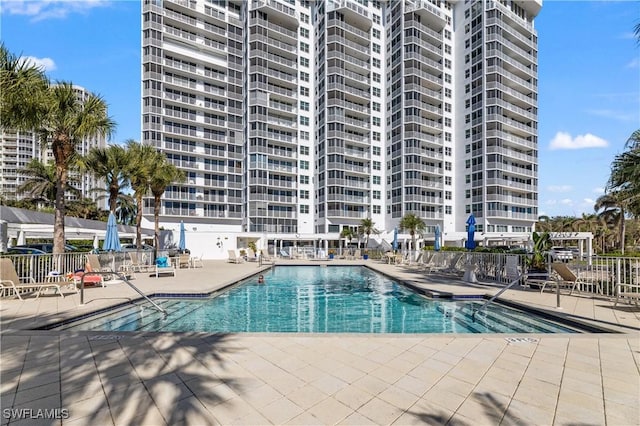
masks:
{"label": "huge white high-rise tower block with stacked balconies behind the pool", "polygon": [[[540,0],[145,0],[143,141],[187,174],[162,223],[445,241],[537,218]],[[145,215],[152,213],[151,201]]]}

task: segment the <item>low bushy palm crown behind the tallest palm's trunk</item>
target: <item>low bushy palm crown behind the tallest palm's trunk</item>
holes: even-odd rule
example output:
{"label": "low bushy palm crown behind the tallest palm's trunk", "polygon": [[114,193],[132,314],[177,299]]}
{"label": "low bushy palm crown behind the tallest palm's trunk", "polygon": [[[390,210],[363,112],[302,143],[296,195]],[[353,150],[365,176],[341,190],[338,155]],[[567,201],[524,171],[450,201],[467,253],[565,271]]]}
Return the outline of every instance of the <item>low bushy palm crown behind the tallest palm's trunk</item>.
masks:
{"label": "low bushy palm crown behind the tallest palm's trunk", "polygon": [[[27,195],[30,201],[53,207],[56,199],[56,169],[53,164],[43,164],[34,158],[22,169],[22,174],[27,179],[16,190]],[[71,185],[71,179],[67,182],[66,192],[74,196],[80,195],[80,190]]]}

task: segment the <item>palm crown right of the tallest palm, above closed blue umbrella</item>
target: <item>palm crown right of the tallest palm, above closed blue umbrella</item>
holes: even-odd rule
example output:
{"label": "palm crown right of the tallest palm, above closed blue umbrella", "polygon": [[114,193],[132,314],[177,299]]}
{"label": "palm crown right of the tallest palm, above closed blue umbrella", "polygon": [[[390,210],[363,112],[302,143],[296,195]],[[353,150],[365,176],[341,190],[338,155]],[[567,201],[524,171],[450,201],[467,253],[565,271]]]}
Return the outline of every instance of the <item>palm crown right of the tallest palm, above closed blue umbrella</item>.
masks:
{"label": "palm crown right of the tallest palm, above closed blue umbrella", "polygon": [[91,148],[84,159],[84,166],[107,184],[106,189],[94,188],[94,191],[103,193],[99,199],[108,198],[109,211],[114,214],[118,202],[125,197],[123,190],[129,187],[129,163],[127,150],[121,145]]}

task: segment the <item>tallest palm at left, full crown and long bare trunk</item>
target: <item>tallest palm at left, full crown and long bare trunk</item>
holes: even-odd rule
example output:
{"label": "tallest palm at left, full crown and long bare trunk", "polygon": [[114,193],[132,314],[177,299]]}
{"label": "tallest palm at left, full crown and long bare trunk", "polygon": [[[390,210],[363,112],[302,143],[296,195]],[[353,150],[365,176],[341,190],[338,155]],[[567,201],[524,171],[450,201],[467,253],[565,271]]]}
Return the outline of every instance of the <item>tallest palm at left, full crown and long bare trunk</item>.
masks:
{"label": "tallest palm at left, full crown and long bare trunk", "polygon": [[50,86],[51,102],[43,117],[38,133],[43,146],[53,152],[56,168],[55,218],[53,223],[53,253],[64,253],[64,216],[69,167],[76,161],[78,144],[87,139],[110,136],[114,121],[107,115],[107,104],[102,97],[90,94],[80,101],[73,84],[62,82]]}

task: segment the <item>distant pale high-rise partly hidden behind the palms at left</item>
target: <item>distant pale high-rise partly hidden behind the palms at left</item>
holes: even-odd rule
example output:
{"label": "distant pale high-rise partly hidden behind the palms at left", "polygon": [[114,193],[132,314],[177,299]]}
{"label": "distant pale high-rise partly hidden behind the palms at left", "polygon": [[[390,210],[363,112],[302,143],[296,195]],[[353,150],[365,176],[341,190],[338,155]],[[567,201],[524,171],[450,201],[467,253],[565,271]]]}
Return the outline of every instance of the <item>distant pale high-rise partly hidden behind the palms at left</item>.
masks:
{"label": "distant pale high-rise partly hidden behind the palms at left", "polygon": [[[84,102],[90,92],[80,86],[73,86],[77,99]],[[28,180],[22,172],[32,159],[38,159],[47,164],[53,162],[53,152],[47,147],[42,147],[42,143],[35,132],[18,132],[12,130],[0,131],[0,187],[2,197],[5,200],[21,200],[27,195],[18,191],[20,185]],[[76,151],[80,155],[86,155],[93,147],[105,147],[106,139],[97,137],[85,139],[76,146]],[[71,172],[69,183],[79,189],[82,196],[97,200],[98,193],[92,191],[94,188],[104,187],[104,182],[97,180],[90,173]],[[67,194],[68,199],[75,199],[73,194]]]}

